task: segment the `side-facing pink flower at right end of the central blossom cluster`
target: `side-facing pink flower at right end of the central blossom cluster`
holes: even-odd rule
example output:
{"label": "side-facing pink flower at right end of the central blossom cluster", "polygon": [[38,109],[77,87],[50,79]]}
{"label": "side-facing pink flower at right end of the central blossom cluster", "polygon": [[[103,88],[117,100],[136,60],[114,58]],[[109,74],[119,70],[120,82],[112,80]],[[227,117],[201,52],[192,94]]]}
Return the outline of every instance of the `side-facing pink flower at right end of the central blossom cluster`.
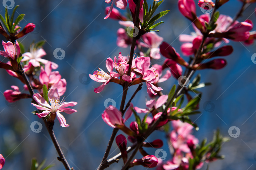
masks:
{"label": "side-facing pink flower at right end of the central blossom cluster", "polygon": [[[155,74],[155,70],[149,69],[150,66],[150,58],[149,57],[137,57],[135,59],[135,66],[137,67],[136,72],[142,74],[142,80],[146,82],[147,92],[150,94],[156,95],[153,90],[160,91],[163,90],[161,87],[156,87],[152,83],[154,83],[155,78],[158,76]],[[138,78],[140,79],[140,78]],[[153,89],[153,90],[152,90]]]}

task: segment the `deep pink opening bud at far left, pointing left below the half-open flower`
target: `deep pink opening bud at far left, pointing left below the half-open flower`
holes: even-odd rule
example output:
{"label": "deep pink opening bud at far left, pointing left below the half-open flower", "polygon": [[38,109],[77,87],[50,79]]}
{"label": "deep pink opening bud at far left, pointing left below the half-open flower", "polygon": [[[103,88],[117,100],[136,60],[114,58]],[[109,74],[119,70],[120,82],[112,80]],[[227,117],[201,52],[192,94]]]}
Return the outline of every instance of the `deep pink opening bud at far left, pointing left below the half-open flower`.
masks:
{"label": "deep pink opening bud at far left, pointing left below the half-open flower", "polygon": [[3,96],[5,97],[6,101],[12,103],[22,98],[30,98],[30,95],[21,93],[19,87],[12,85],[11,88],[13,88],[13,90],[5,90],[3,92]]}

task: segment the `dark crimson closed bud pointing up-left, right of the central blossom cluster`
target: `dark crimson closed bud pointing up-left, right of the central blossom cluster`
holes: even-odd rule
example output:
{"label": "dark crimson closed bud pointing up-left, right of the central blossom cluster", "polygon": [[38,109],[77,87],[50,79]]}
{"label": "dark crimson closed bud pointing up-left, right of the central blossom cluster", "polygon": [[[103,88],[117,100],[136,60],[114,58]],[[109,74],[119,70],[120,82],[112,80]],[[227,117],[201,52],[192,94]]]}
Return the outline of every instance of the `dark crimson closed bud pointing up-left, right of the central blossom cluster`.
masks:
{"label": "dark crimson closed bud pointing up-left, right of the central blossom cluster", "polygon": [[183,58],[181,58],[180,54],[176,53],[175,49],[167,42],[163,42],[160,45],[160,52],[164,57],[170,58],[181,65],[188,66],[188,63]]}

